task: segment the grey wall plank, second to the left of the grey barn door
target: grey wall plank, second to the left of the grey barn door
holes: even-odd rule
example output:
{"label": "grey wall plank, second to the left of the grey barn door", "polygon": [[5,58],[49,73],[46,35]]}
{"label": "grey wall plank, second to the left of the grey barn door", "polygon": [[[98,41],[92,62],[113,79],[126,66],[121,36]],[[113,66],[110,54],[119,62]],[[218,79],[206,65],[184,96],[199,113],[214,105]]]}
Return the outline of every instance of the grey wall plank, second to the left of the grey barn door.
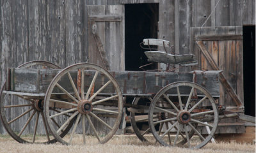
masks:
{"label": "grey wall plank, second to the left of the grey barn door", "polygon": [[47,1],[47,59],[61,68],[66,64],[65,3]]}

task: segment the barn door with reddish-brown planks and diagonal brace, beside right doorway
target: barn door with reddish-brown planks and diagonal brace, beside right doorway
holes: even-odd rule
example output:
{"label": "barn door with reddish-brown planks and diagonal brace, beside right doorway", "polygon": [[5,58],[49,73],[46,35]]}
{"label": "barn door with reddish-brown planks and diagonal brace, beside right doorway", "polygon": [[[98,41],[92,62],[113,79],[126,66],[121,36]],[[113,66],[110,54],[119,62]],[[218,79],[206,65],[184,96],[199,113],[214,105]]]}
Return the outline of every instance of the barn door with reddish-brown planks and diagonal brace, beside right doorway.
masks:
{"label": "barn door with reddish-brown planks and diagonal brace, beside right doorway", "polygon": [[[216,66],[223,70],[223,77],[227,80],[221,82],[220,105],[238,111],[240,106],[243,106],[242,27],[193,27],[191,31],[191,47],[199,63],[194,69],[216,69],[209,62],[209,58],[205,58],[202,52],[205,49]],[[227,84],[230,85],[230,89]]]}

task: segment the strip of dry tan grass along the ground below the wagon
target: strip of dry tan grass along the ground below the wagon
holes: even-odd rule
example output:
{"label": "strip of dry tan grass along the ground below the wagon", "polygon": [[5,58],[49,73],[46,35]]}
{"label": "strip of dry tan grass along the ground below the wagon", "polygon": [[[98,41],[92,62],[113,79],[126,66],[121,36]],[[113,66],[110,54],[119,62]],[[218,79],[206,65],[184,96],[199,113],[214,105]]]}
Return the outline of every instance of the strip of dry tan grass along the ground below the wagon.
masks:
{"label": "strip of dry tan grass along the ground below the wagon", "polygon": [[[81,141],[81,138],[77,138],[77,142]],[[17,143],[10,136],[0,136],[0,152],[47,152],[47,153],[66,153],[66,152],[125,152],[125,153],[137,153],[137,152],[188,152],[188,153],[228,153],[228,152],[255,152],[255,144],[248,143],[208,143],[202,149],[182,149],[178,147],[162,147],[160,145],[150,145],[149,143],[143,143],[136,138],[136,136],[116,135],[109,140],[106,144],[97,144],[96,138],[87,136],[86,145],[61,145],[55,143],[51,145],[44,144],[22,144]]]}

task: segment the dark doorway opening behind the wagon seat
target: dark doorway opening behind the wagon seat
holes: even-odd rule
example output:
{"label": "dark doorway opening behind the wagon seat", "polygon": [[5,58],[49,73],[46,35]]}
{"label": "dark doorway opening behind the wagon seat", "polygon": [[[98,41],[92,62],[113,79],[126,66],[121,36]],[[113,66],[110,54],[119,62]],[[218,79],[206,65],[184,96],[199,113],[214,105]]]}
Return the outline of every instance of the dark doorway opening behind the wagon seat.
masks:
{"label": "dark doorway opening behind the wagon seat", "polygon": [[[144,38],[157,38],[159,4],[125,4],[125,70],[141,71],[148,64],[140,43]],[[156,69],[157,64],[147,69]]]}

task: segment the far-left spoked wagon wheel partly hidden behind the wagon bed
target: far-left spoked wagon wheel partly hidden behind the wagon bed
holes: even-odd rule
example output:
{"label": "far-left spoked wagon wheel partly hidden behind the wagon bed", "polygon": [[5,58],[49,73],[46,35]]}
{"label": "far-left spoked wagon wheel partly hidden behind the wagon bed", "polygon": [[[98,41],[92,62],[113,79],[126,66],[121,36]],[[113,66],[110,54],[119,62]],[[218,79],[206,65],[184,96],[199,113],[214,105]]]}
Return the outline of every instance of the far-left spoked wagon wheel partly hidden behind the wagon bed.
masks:
{"label": "far-left spoked wagon wheel partly hidden behind the wagon bed", "polygon": [[[47,61],[30,61],[20,65],[18,68],[60,69],[59,66]],[[29,96],[25,97],[22,96],[22,94],[17,94],[15,92],[7,94],[5,92],[5,85],[6,82],[4,82],[0,92],[0,115],[3,126],[8,134],[20,143],[35,143],[35,141],[36,143],[56,142],[56,140],[49,135],[45,124],[44,113],[42,111],[42,103],[44,102],[40,99],[29,98]],[[13,112],[20,112],[20,115],[12,117],[13,114],[15,114]],[[33,122],[33,117],[35,118],[35,122]],[[26,124],[22,127],[17,126],[20,120],[26,121]],[[34,130],[32,138],[31,136],[23,134],[28,127]],[[38,127],[44,128],[45,136],[36,135]],[[61,133],[61,136],[65,135],[67,131],[68,128]]]}

